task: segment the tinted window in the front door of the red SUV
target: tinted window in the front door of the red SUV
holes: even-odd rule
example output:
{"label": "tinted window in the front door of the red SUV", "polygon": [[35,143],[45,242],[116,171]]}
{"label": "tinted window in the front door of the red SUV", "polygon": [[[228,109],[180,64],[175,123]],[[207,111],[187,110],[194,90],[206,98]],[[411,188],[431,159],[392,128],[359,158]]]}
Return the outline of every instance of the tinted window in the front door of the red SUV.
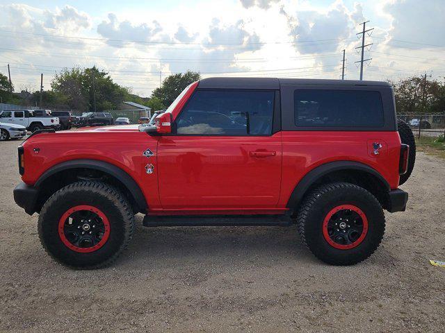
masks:
{"label": "tinted window in the front door of the red SUV", "polygon": [[264,90],[197,90],[177,118],[177,133],[270,135],[274,96]]}

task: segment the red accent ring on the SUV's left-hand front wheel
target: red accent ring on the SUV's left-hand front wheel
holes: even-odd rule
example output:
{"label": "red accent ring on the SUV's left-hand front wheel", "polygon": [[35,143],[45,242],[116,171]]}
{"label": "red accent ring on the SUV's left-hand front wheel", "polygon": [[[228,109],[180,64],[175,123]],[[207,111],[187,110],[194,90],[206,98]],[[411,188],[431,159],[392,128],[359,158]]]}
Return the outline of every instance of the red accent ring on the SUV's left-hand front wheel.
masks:
{"label": "red accent ring on the SUV's left-hand front wheel", "polygon": [[[103,232],[102,238],[100,238],[97,244],[93,244],[92,246],[86,246],[86,247],[76,246],[69,239],[67,239],[65,235],[65,225],[67,219],[75,212],[81,212],[81,211],[86,211],[88,214],[95,214],[102,220],[100,222],[103,223],[103,226],[101,225]],[[88,224],[88,229],[83,229],[83,230],[90,230],[89,224]],[[94,252],[95,250],[99,250],[99,248],[102,248],[102,246],[104,246],[104,244],[108,240],[108,237],[110,236],[110,222],[108,221],[106,215],[97,207],[90,205],[79,205],[70,208],[62,215],[62,217],[60,217],[60,220],[58,221],[58,235],[60,237],[60,240],[63,242],[63,244],[65,244],[65,246],[67,246],[67,248],[70,248],[71,250],[79,253],[91,253]]]}

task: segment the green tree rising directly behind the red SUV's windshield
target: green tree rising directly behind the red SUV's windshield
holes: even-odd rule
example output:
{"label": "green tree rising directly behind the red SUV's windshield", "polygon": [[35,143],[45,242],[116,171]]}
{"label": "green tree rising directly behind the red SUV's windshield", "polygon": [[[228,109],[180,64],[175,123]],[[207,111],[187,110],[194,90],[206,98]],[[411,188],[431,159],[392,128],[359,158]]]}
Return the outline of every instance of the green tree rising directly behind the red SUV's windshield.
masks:
{"label": "green tree rising directly behind the red SUV's windshield", "polygon": [[156,97],[163,105],[168,107],[188,85],[200,80],[200,78],[201,74],[195,71],[170,75],[163,80],[161,87],[154,89],[152,98]]}

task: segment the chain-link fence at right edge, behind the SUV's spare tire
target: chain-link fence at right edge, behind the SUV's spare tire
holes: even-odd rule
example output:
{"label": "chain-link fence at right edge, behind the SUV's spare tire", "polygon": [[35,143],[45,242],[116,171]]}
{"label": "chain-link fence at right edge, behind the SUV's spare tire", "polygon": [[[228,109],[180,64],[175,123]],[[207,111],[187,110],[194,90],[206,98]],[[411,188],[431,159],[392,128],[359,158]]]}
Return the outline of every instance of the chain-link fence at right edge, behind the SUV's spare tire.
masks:
{"label": "chain-link fence at right edge, behind the SUV's spare tire", "polygon": [[445,134],[445,114],[397,114],[416,137],[439,137]]}

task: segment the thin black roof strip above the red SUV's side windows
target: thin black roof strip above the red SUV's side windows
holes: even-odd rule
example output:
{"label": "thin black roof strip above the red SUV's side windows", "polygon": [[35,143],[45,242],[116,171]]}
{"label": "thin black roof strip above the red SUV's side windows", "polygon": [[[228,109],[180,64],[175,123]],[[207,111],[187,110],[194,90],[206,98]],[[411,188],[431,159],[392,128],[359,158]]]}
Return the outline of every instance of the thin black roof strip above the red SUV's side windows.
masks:
{"label": "thin black roof strip above the red SUV's side windows", "polygon": [[280,89],[280,85],[385,86],[382,81],[325,80],[319,78],[203,78],[198,87],[208,89]]}

